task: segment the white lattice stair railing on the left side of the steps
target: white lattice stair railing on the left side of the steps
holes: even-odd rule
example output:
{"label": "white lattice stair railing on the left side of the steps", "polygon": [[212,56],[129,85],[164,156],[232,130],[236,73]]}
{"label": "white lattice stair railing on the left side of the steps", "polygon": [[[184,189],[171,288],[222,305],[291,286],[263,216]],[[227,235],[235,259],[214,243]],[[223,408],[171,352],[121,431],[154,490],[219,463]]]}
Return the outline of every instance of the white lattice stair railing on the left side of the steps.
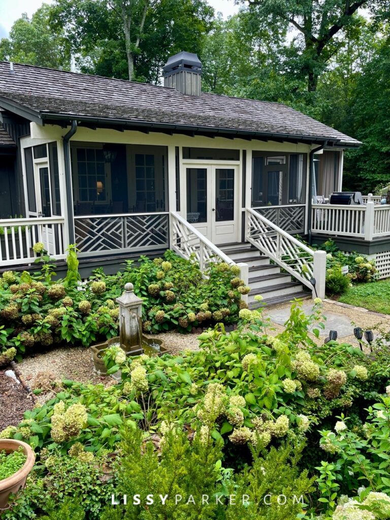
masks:
{"label": "white lattice stair railing on the left side of the steps", "polygon": [[[198,229],[191,226],[185,218],[175,211],[171,211],[170,228],[171,249],[183,258],[195,257],[199,262],[201,271],[207,269],[211,262],[235,264],[229,256],[218,249]],[[240,267],[241,278],[248,284],[248,265],[237,265]]]}

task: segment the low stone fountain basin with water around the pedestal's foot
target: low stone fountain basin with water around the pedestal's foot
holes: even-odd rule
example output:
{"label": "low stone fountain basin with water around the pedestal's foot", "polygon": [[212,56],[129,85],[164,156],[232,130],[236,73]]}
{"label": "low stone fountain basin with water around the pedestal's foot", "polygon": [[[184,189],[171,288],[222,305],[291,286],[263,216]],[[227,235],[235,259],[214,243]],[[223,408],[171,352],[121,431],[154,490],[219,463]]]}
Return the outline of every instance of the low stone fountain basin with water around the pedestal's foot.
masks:
{"label": "low stone fountain basin with water around the pedestal's foot", "polygon": [[[94,362],[95,372],[98,375],[107,375],[107,367],[103,361],[103,357],[105,356],[106,349],[115,343],[120,343],[119,336],[111,337],[110,340],[89,347],[92,350],[92,360]],[[142,334],[142,347],[126,350],[125,345],[121,344],[120,346],[125,351],[126,356],[140,356],[141,354],[161,356],[168,352],[168,348],[165,346],[163,340],[152,339],[144,336],[144,334]]]}

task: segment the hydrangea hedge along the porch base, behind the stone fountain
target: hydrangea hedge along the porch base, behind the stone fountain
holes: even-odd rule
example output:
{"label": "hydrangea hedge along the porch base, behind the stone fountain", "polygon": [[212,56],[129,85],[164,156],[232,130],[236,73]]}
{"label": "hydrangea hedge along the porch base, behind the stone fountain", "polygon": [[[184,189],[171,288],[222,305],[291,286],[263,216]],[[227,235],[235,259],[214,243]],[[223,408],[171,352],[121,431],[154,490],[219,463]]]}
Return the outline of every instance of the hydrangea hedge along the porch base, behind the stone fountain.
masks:
{"label": "hydrangea hedge along the porch base, behind the stone fountain", "polygon": [[118,335],[114,302],[127,282],[143,300],[144,331],[153,333],[235,323],[241,291],[249,290],[227,264],[211,265],[205,279],[196,262],[170,251],[154,261],[141,257],[138,266],[128,262],[124,272],[113,276],[98,269],[80,287],[74,246],[63,281],[51,281],[54,267],[44,250],[37,260],[40,273],[6,271],[0,278],[0,345],[16,347],[19,355],[41,345],[88,346]]}

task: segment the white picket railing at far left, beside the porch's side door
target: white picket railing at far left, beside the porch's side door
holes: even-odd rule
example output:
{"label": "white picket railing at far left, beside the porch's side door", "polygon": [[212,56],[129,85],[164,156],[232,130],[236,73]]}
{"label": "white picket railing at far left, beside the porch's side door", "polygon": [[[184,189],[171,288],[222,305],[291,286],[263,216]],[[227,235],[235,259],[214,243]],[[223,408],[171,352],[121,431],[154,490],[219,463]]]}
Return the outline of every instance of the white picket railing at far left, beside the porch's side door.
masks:
{"label": "white picket railing at far left, beside the porch's side door", "polygon": [[0,267],[33,263],[36,242],[42,242],[51,257],[64,258],[63,226],[62,217],[0,220]]}

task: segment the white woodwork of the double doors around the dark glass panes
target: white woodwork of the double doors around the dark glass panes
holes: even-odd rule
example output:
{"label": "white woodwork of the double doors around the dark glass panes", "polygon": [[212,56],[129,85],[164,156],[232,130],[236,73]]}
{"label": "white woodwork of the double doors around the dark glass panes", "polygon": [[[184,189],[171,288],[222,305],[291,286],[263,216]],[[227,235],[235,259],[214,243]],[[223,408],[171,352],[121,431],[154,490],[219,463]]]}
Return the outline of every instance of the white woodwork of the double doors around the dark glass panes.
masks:
{"label": "white woodwork of the double doors around the dark glass panes", "polygon": [[[206,223],[192,223],[195,228],[207,228],[206,233],[203,234],[211,240],[215,244],[219,244],[221,242],[218,241],[217,236],[217,227],[218,222],[216,222],[216,208],[215,208],[215,200],[216,200],[216,170],[234,170],[235,171],[235,183],[234,183],[234,215],[235,218],[233,221],[233,225],[235,226],[235,231],[233,233],[233,237],[229,242],[239,242],[241,236],[241,199],[242,199],[242,166],[241,161],[212,161],[212,160],[200,160],[200,159],[192,159],[192,160],[183,160],[183,175],[181,176],[180,189],[184,192],[184,205],[183,213],[184,217],[187,217],[187,169],[188,168],[200,168],[205,169],[207,171],[207,209],[206,209]],[[213,211],[214,208],[214,211]],[[202,226],[202,224],[204,224]],[[222,223],[221,223],[222,224]],[[223,243],[223,242],[222,242]],[[222,244],[221,243],[221,244]],[[228,243],[228,242],[227,242]]]}

